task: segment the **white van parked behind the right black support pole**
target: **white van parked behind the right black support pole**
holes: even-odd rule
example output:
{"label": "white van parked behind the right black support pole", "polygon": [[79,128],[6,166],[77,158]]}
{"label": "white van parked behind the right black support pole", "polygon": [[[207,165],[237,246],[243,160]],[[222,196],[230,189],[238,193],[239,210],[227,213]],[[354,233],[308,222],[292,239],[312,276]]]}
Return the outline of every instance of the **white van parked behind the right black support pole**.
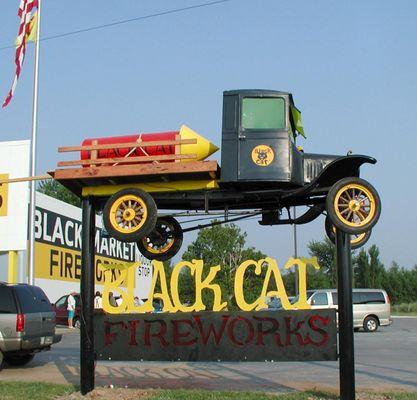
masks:
{"label": "white van parked behind the right black support pole", "polygon": [[[378,326],[392,324],[391,304],[388,294],[382,289],[353,289],[353,327],[375,332]],[[307,302],[312,309],[335,308],[337,310],[337,290],[318,289],[307,291]]]}

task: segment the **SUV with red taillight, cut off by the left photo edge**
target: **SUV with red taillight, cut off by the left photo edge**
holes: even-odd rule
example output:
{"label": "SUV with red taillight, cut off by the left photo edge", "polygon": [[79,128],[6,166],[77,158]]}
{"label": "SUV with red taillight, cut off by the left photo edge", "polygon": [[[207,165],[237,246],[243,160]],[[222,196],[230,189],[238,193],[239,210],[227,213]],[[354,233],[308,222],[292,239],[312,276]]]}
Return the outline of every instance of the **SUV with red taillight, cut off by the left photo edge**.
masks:
{"label": "SUV with red taillight, cut off by the left photo edge", "polygon": [[55,333],[55,312],[41,288],[0,282],[0,368],[3,361],[27,364],[61,337]]}

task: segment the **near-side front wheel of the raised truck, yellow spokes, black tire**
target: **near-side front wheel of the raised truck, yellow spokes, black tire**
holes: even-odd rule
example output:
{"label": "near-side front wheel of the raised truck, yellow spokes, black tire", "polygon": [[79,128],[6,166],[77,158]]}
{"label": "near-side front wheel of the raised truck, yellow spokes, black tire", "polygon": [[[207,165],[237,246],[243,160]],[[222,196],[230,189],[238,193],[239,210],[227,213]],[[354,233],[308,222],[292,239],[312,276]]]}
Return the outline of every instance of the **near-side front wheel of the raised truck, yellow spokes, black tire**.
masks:
{"label": "near-side front wheel of the raised truck, yellow spokes, black tire", "polygon": [[333,225],[351,235],[370,231],[381,215],[376,189],[361,178],[343,178],[329,190],[326,210]]}

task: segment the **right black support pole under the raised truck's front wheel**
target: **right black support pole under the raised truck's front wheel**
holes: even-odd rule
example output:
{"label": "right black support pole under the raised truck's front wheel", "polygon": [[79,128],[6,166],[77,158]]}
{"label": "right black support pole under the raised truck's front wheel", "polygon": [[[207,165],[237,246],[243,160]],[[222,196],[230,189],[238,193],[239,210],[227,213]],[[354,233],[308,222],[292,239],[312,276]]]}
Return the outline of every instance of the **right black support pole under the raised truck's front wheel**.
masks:
{"label": "right black support pole under the raised truck's front wheel", "polygon": [[350,235],[336,229],[336,246],[339,303],[340,398],[342,400],[355,400],[355,352],[353,342]]}

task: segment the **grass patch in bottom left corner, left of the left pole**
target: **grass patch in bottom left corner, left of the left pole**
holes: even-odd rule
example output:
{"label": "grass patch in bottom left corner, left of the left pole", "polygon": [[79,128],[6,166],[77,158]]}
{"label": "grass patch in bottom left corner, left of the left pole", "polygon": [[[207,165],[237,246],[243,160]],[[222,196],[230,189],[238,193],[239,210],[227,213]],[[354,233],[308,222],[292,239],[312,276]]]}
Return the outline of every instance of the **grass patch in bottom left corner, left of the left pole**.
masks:
{"label": "grass patch in bottom left corner, left of the left pole", "polygon": [[50,400],[57,396],[70,394],[77,390],[70,385],[57,385],[43,382],[1,382],[1,400]]}

